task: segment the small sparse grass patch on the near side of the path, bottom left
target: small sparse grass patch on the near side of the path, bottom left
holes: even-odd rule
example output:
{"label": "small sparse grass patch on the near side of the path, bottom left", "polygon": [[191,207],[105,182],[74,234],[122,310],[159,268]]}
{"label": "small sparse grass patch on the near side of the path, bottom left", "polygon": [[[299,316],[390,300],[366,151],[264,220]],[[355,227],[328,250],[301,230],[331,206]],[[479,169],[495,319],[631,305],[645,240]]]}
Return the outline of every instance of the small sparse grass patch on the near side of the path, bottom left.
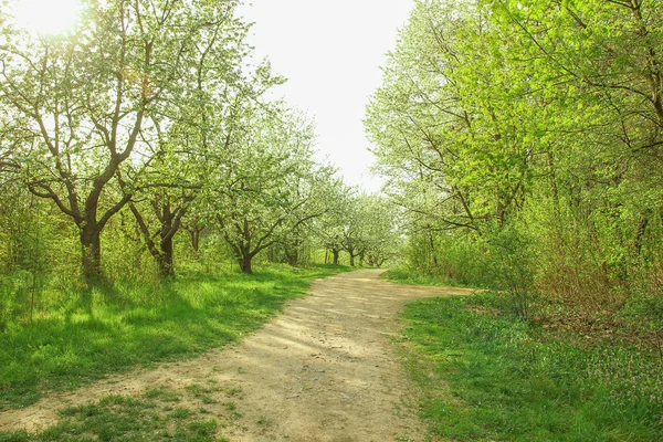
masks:
{"label": "small sparse grass patch on the near side of the path, bottom left", "polygon": [[0,433],[0,442],[225,441],[219,435],[223,417],[210,418],[204,408],[173,407],[180,400],[168,390],[151,390],[139,398],[108,396],[65,409],[60,422],[45,431]]}

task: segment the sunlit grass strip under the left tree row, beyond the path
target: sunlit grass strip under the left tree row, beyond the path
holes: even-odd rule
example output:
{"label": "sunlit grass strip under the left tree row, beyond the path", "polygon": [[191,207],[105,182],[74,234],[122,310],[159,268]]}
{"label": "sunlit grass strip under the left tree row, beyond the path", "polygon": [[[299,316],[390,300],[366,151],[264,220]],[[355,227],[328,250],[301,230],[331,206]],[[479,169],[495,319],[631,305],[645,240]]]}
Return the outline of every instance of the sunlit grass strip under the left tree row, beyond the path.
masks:
{"label": "sunlit grass strip under the left tree row, beyond the path", "polygon": [[29,406],[49,391],[75,389],[136,366],[182,360],[240,339],[285,301],[306,294],[312,280],[345,270],[182,273],[160,284],[117,284],[87,296],[42,294],[31,319],[6,323],[0,330],[0,411]]}

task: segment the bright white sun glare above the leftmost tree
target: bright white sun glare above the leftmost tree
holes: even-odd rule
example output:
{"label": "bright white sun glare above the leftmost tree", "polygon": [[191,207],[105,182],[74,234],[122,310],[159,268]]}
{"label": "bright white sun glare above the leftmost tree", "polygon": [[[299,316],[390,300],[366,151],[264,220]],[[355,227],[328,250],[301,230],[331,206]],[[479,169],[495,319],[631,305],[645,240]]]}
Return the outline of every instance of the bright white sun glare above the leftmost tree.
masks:
{"label": "bright white sun glare above the leftmost tree", "polygon": [[80,0],[13,0],[17,23],[34,34],[62,34],[78,18]]}

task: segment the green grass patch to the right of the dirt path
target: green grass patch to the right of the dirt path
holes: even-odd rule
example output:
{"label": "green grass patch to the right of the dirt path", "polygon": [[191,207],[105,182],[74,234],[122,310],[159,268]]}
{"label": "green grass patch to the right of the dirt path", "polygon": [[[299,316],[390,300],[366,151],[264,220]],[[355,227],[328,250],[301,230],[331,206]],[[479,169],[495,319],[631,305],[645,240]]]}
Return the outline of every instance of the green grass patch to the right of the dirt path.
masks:
{"label": "green grass patch to the right of the dirt path", "polygon": [[408,367],[436,438],[456,441],[662,441],[654,351],[582,344],[502,314],[495,294],[407,306]]}

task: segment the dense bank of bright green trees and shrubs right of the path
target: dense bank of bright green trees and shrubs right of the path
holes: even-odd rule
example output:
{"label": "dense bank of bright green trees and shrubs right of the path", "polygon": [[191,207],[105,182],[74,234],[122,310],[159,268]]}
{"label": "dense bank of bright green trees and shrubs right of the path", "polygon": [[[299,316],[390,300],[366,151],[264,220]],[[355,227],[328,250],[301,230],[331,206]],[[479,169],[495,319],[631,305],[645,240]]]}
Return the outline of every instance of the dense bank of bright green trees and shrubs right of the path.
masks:
{"label": "dense bank of bright green trees and shrubs right of the path", "polygon": [[366,122],[411,265],[660,323],[662,40],[651,1],[415,1]]}

